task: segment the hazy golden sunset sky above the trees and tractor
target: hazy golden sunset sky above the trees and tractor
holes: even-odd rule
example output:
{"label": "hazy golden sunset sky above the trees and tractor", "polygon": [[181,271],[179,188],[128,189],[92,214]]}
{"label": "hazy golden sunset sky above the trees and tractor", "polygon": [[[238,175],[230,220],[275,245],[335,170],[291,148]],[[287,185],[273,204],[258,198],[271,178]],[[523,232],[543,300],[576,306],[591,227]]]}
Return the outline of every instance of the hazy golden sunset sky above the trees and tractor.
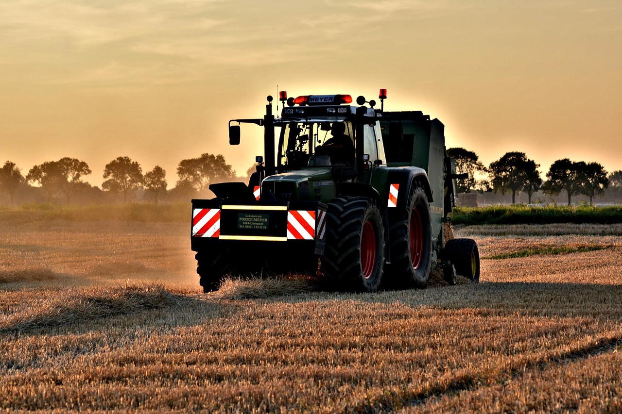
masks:
{"label": "hazy golden sunset sky above the trees and tractor", "polygon": [[0,162],[223,154],[239,175],[266,96],[388,90],[488,165],[525,152],[622,170],[622,2],[0,0]]}

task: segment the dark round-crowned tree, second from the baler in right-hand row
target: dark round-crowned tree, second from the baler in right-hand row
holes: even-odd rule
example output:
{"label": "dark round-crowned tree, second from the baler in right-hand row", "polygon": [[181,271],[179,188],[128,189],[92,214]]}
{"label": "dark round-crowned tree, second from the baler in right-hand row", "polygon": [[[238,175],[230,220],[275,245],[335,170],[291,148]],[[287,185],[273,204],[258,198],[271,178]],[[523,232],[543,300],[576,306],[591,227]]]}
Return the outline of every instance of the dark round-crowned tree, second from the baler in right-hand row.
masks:
{"label": "dark round-crowned tree, second from the baler in right-hand row", "polygon": [[[503,157],[490,164],[489,173],[491,185],[496,193],[512,193],[512,204],[516,203],[516,193],[526,191],[534,193],[533,190],[539,187],[542,182],[537,172],[536,164],[533,160],[527,159],[524,152],[506,152]],[[538,180],[540,180],[538,182]],[[531,202],[531,194],[529,200]]]}

